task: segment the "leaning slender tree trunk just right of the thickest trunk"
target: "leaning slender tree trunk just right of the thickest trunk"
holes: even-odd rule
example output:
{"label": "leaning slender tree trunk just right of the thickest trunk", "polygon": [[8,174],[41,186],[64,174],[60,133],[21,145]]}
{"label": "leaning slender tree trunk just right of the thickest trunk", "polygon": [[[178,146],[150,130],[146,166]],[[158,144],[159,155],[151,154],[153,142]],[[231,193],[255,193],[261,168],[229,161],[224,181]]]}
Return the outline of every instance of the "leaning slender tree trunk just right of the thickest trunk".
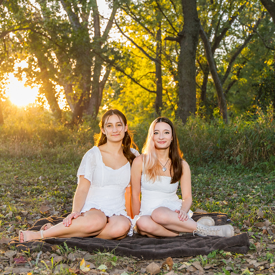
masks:
{"label": "leaning slender tree trunk just right of the thickest trunk", "polygon": [[207,63],[214,81],[214,85],[217,91],[217,95],[218,95],[218,106],[220,108],[220,111],[222,113],[222,118],[225,121],[225,123],[228,122],[227,119],[227,104],[226,104],[226,98],[224,96],[223,90],[222,90],[222,83],[221,80],[218,76],[217,73],[217,67],[214,61],[214,57],[212,55],[212,51],[211,51],[211,45],[210,42],[207,38],[207,35],[204,31],[204,29],[202,28],[202,26],[200,25],[200,37],[204,43],[204,49],[205,49],[205,53],[206,53],[206,58],[207,58]]}

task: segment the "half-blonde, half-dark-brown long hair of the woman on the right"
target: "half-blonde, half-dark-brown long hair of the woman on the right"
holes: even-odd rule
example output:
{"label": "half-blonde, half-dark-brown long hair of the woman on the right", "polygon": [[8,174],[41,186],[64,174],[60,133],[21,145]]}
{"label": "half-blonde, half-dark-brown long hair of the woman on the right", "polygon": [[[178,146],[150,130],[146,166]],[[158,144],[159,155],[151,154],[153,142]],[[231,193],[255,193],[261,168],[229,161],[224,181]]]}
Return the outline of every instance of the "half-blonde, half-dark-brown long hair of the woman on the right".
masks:
{"label": "half-blonde, half-dark-brown long hair of the woman on the right", "polygon": [[171,159],[170,174],[171,182],[175,183],[180,180],[183,173],[182,167],[182,157],[183,153],[178,145],[178,138],[173,123],[170,119],[166,117],[158,117],[155,119],[149,128],[148,135],[145,144],[142,148],[142,153],[144,154],[144,174],[147,175],[149,179],[156,180],[156,177],[160,175],[161,166],[157,159],[156,148],[153,141],[154,128],[156,123],[165,122],[170,125],[172,129],[172,142],[169,146],[169,158]]}

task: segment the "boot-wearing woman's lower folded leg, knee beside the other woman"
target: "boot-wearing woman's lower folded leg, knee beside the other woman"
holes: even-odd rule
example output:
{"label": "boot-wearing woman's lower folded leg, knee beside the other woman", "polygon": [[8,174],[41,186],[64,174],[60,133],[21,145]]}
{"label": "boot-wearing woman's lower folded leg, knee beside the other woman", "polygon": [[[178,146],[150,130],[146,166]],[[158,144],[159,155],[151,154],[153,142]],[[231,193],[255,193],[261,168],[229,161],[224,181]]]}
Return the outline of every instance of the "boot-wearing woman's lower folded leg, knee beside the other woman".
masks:
{"label": "boot-wearing woman's lower folded leg, knee beside the other woman", "polygon": [[154,222],[150,215],[144,215],[138,218],[136,226],[138,233],[151,238],[178,236],[178,232],[168,230],[162,225]]}

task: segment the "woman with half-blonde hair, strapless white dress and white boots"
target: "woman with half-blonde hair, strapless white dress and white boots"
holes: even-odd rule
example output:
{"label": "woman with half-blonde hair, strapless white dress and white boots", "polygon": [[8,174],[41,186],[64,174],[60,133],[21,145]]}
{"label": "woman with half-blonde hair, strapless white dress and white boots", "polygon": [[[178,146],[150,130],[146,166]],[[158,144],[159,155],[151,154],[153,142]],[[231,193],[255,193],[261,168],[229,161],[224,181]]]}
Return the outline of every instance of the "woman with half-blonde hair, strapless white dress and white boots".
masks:
{"label": "woman with half-blonde hair, strapless white dress and white boots", "polygon": [[[182,156],[173,123],[166,117],[155,119],[142,154],[134,159],[131,168],[135,232],[147,237],[174,237],[183,232],[233,236],[231,225],[214,226],[210,217],[198,222],[191,218],[191,173]],[[176,194],[179,181],[182,200]]]}

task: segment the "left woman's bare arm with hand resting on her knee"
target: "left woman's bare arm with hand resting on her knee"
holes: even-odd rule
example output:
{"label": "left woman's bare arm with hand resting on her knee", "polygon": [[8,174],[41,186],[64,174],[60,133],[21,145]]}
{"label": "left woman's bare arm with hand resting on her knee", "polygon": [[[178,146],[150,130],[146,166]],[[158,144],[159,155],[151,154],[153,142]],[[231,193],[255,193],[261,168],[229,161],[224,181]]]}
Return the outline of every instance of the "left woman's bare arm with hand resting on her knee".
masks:
{"label": "left woman's bare arm with hand resting on her knee", "polygon": [[63,220],[64,226],[69,226],[73,218],[76,219],[81,215],[80,211],[83,205],[85,204],[85,200],[86,200],[90,185],[91,185],[90,181],[84,178],[83,175],[79,177],[79,183],[75,191],[72,211],[71,211],[71,214],[68,215],[68,217],[64,218]]}

